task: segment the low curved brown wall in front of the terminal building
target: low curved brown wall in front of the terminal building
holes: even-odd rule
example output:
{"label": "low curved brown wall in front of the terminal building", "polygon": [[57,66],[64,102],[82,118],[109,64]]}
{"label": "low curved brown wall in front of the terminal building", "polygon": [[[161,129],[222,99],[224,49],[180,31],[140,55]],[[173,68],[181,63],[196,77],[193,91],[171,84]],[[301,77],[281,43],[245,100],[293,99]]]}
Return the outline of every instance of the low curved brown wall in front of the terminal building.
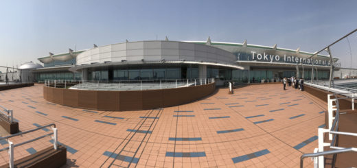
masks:
{"label": "low curved brown wall in front of the terminal building", "polygon": [[187,104],[215,89],[215,83],[148,91],[84,91],[43,86],[43,98],[55,104],[92,110],[148,110]]}

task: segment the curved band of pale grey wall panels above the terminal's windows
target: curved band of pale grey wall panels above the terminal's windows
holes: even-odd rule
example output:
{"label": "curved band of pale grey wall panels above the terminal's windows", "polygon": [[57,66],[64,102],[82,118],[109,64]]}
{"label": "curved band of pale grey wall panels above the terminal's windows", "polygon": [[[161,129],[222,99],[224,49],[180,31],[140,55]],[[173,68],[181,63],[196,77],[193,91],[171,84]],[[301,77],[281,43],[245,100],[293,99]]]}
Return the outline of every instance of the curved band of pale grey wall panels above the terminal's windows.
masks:
{"label": "curved band of pale grey wall panels above the terminal's windows", "polygon": [[235,56],[229,51],[209,45],[194,43],[180,43],[172,41],[145,41],[133,43],[119,43],[99,48],[89,49],[80,53],[77,64],[91,64],[93,62],[111,61],[140,62],[150,60],[196,60],[204,62],[218,62],[234,64]]}

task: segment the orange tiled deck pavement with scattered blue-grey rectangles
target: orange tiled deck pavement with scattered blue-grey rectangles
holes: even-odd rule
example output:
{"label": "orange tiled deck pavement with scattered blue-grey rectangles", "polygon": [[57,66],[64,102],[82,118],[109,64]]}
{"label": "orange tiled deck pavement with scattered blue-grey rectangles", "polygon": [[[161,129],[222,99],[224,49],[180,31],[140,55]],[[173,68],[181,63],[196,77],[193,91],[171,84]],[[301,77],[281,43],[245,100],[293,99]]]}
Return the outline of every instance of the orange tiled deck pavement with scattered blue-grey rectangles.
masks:
{"label": "orange tiled deck pavement with scattered blue-grey rectangles", "polygon": [[[65,167],[299,167],[301,154],[317,147],[327,107],[281,84],[246,86],[233,95],[221,88],[190,104],[126,112],[51,104],[42,92],[41,85],[0,91],[0,104],[14,110],[21,131],[56,123],[58,140],[67,146]],[[50,145],[46,137],[16,147],[15,160]],[[8,154],[0,152],[5,163]],[[312,167],[310,159],[304,163]]]}

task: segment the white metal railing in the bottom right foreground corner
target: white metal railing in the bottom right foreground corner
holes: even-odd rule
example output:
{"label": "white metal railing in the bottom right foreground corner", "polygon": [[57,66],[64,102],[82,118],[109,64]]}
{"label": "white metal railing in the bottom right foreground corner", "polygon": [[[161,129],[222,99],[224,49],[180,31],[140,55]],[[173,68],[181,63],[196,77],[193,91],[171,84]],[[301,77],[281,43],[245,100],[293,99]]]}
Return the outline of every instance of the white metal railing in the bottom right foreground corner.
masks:
{"label": "white metal railing in the bottom right foreground corner", "polygon": [[[338,123],[339,123],[339,118],[340,118],[340,105],[339,105],[339,99],[351,99],[352,102],[352,110],[354,110],[354,99],[357,99],[355,97],[356,92],[343,92],[343,93],[334,93],[334,94],[329,94],[327,95],[327,122],[328,122],[328,129],[325,128],[319,128],[318,130],[318,143],[319,143],[319,148],[316,148],[314,150],[313,154],[303,154],[301,156],[300,160],[300,167],[303,167],[303,158],[306,157],[312,157],[314,161],[314,167],[324,167],[325,166],[325,155],[329,154],[339,154],[339,153],[344,153],[344,152],[357,152],[356,147],[352,148],[345,148],[345,147],[338,147],[337,144],[337,139],[338,135],[347,135],[347,136],[357,136],[357,133],[354,132],[340,132],[338,131]],[[338,96],[340,95],[340,96]],[[345,97],[341,97],[345,96]],[[335,112],[335,116],[334,116]],[[325,143],[323,139],[323,134],[328,132],[328,139],[331,141],[331,143]],[[324,152],[323,147],[325,146],[330,146],[330,149],[334,149],[331,151]],[[318,158],[316,158],[318,157]],[[334,157],[335,158],[335,157]],[[333,161],[334,163],[334,161]]]}

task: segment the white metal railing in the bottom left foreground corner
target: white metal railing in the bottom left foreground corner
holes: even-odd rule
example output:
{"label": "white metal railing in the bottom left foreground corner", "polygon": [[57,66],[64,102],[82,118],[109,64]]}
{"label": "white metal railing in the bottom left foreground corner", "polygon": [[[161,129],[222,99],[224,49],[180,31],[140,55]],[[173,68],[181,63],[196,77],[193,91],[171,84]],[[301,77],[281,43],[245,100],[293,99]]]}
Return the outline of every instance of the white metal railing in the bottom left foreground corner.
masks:
{"label": "white metal railing in the bottom left foreground corner", "polygon": [[[54,127],[51,127],[51,126],[54,126]],[[58,148],[58,136],[57,136],[57,128],[56,128],[56,124],[54,123],[50,123],[48,125],[44,125],[44,126],[41,126],[41,127],[38,127],[38,128],[35,128],[33,130],[28,130],[28,131],[25,131],[25,132],[19,132],[17,134],[12,134],[12,135],[9,135],[9,136],[4,136],[4,137],[0,137],[0,141],[1,140],[5,140],[5,139],[10,139],[14,136],[20,136],[20,135],[23,135],[23,134],[27,134],[27,133],[30,133],[30,132],[34,132],[36,130],[41,130],[43,128],[47,128],[47,127],[51,127],[51,129],[54,131],[54,132],[51,132],[49,134],[45,134],[43,136],[39,136],[37,137],[36,139],[31,139],[29,141],[25,141],[25,142],[22,142],[22,143],[18,143],[18,144],[14,144],[12,143],[10,140],[8,140],[8,143],[9,143],[9,147],[4,147],[3,149],[0,149],[0,152],[2,151],[5,151],[5,150],[8,150],[8,154],[9,154],[9,167],[10,168],[13,168],[14,167],[14,147],[18,147],[18,146],[21,146],[21,145],[25,145],[27,143],[31,143],[33,141],[36,141],[38,139],[43,139],[47,136],[51,136],[52,134],[54,136],[51,136],[51,139],[54,140],[54,149],[57,150]]]}

